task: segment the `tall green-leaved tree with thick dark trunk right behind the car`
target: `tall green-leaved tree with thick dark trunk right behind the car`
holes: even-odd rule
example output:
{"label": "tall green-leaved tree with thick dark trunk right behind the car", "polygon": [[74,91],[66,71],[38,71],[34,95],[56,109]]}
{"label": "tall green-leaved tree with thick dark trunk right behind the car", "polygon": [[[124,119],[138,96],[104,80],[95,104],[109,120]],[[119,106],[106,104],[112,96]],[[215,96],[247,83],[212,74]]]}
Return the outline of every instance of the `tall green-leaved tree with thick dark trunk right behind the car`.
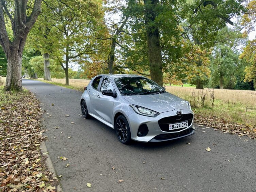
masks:
{"label": "tall green-leaved tree with thick dark trunk right behind the car", "polygon": [[[226,22],[233,25],[230,18],[241,13],[242,2],[243,0],[133,1],[129,25],[131,31],[136,33],[133,35],[134,41],[138,41],[140,34],[146,37],[139,40],[147,45],[151,79],[163,84],[163,72],[171,69],[170,65],[177,63],[182,57],[182,36],[192,36],[190,41],[201,46],[202,50],[210,48],[214,35],[225,27]],[[185,30],[182,29],[184,25]],[[200,66],[203,65],[198,61],[198,67]],[[197,81],[196,84],[198,88],[203,88],[202,82]]]}

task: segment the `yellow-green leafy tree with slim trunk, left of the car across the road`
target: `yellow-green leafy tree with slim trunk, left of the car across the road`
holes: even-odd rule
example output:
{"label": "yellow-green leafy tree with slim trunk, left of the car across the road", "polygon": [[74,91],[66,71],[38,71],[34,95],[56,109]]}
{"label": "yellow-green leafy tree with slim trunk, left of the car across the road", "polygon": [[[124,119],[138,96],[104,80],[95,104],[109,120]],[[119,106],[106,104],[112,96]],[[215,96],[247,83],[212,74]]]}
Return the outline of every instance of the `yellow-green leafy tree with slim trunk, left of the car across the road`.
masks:
{"label": "yellow-green leafy tree with slim trunk, left of the car across the road", "polygon": [[[48,27],[51,34],[44,33],[44,35],[47,35],[47,38],[54,37],[53,44],[48,50],[52,51],[52,58],[64,69],[66,85],[69,85],[69,63],[77,63],[81,57],[88,59],[90,54],[101,49],[96,34],[98,35],[100,29],[104,28],[102,1],[47,0],[44,2],[49,13],[42,20],[42,26],[45,26],[45,21],[51,25],[51,28]],[[45,31],[45,29],[41,30]]]}

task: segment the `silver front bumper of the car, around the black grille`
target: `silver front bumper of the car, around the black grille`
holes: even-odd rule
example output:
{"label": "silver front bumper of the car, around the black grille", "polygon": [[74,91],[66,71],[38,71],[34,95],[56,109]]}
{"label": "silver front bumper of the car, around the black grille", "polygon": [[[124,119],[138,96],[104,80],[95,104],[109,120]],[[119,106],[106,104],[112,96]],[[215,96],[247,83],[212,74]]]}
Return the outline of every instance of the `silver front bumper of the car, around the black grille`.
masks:
{"label": "silver front bumper of the car, around the black grille", "polygon": [[[195,127],[193,126],[194,118],[189,125],[189,127],[177,131],[163,131],[161,130],[158,121],[164,117],[175,116],[178,109],[164,112],[156,117],[147,117],[139,115],[137,113],[132,113],[128,116],[127,121],[130,125],[131,139],[140,142],[161,142],[169,141],[182,137],[187,137],[195,133]],[[189,109],[180,110],[182,114],[194,114],[193,111]],[[170,122],[171,123],[171,122]],[[138,137],[138,129],[140,125],[146,124],[148,127],[148,133],[144,137]]]}

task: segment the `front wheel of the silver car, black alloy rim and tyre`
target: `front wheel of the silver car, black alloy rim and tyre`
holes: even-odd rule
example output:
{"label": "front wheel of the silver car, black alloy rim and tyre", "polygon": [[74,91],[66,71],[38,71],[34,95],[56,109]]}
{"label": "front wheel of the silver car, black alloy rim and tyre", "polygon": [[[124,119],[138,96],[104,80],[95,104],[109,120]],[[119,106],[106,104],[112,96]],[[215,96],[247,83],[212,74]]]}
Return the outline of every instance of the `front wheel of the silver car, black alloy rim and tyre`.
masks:
{"label": "front wheel of the silver car, black alloy rim and tyre", "polygon": [[124,115],[119,115],[115,121],[115,132],[118,140],[123,144],[131,142],[131,131]]}

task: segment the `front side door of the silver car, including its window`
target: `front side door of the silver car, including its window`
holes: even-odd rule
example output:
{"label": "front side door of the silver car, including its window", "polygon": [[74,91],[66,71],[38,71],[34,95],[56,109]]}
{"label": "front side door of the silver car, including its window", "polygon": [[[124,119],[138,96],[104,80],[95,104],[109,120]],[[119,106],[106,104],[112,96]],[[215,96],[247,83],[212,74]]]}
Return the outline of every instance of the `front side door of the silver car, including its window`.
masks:
{"label": "front side door of the silver car, including its window", "polygon": [[112,124],[112,115],[113,115],[113,106],[115,98],[108,95],[103,95],[103,90],[114,90],[114,86],[109,78],[103,77],[103,80],[100,85],[100,99],[97,100],[97,110],[99,116],[105,121]]}

